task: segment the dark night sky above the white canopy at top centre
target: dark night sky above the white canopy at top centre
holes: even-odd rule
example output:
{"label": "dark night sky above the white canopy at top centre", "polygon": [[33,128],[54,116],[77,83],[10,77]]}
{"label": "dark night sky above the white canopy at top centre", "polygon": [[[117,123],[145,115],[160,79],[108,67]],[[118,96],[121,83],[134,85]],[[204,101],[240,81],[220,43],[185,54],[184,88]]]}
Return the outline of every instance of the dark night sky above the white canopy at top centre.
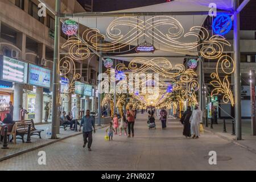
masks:
{"label": "dark night sky above the white canopy at top centre", "polygon": [[[83,4],[86,0],[78,0]],[[158,3],[164,3],[166,0],[94,0],[93,11],[105,12],[131,9],[134,7],[155,5]]]}

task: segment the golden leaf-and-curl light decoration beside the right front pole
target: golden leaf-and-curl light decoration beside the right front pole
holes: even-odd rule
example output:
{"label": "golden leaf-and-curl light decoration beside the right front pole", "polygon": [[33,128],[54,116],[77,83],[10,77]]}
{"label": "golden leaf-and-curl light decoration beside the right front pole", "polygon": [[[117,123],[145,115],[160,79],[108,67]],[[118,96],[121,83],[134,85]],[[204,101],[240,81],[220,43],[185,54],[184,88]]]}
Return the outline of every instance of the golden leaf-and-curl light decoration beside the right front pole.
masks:
{"label": "golden leaf-and-curl light decoration beside the right front pole", "polygon": [[[221,70],[220,70],[221,68]],[[217,96],[218,94],[223,94],[222,100],[224,103],[231,102],[231,105],[234,106],[234,97],[232,90],[230,89],[230,83],[228,80],[228,75],[234,73],[235,65],[232,57],[228,55],[221,56],[218,59],[216,66],[216,73],[212,73],[210,77],[213,81],[210,84],[214,87],[212,90],[211,96]],[[223,80],[220,78],[220,71],[224,72],[226,76],[224,76]]]}

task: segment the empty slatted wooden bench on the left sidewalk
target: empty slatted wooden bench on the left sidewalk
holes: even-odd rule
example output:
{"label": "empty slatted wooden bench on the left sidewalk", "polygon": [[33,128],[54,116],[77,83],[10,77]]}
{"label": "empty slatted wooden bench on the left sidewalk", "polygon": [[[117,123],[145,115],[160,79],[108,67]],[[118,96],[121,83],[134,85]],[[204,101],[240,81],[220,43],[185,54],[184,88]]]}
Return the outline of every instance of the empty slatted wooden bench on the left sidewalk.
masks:
{"label": "empty slatted wooden bench on the left sidewalk", "polygon": [[16,138],[16,139],[22,139],[23,143],[24,143],[24,135],[27,135],[28,133],[28,125],[31,125],[31,129],[30,129],[31,136],[37,135],[39,136],[39,138],[42,138],[41,132],[44,130],[36,130],[33,119],[25,120],[25,121],[16,121],[15,123],[18,123],[17,129],[16,129],[16,136],[20,136],[20,138]]}

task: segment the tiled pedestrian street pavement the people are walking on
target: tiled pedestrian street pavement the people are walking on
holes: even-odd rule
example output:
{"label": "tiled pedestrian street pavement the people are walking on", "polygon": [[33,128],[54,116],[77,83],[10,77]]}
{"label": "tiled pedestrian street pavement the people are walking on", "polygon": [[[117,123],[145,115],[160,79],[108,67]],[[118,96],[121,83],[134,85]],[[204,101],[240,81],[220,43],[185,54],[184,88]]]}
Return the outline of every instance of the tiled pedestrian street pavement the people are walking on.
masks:
{"label": "tiled pedestrian street pavement the people are walking on", "polygon": [[[0,163],[1,170],[256,170],[256,154],[212,133],[185,139],[182,125],[168,122],[167,130],[148,130],[146,114],[138,115],[135,138],[114,135],[104,140],[104,129],[93,135],[92,151],[82,148],[82,136],[68,138]],[[208,163],[216,151],[217,165]],[[46,152],[46,166],[38,164],[38,152]],[[230,159],[230,160],[228,160]]]}

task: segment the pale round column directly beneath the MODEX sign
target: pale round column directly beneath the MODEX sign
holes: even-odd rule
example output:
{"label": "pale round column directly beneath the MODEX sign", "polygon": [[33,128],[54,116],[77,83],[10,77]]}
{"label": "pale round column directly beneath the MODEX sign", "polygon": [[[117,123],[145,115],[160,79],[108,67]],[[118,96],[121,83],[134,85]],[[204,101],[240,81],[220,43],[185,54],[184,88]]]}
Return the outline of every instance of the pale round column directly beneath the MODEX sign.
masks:
{"label": "pale round column directly beneath the MODEX sign", "polygon": [[43,88],[36,87],[36,100],[35,100],[35,122],[41,123],[43,121]]}

